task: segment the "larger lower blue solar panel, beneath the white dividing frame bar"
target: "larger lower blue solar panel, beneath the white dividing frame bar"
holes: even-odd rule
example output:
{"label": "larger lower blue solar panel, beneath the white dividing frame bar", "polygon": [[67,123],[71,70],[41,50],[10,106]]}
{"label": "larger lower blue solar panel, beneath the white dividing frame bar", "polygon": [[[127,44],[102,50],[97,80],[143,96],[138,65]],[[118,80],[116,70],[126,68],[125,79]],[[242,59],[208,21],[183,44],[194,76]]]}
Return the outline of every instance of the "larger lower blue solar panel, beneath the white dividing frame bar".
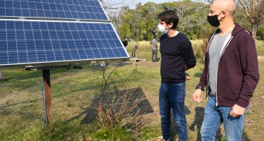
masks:
{"label": "larger lower blue solar panel, beneath the white dividing frame bar", "polygon": [[0,66],[122,57],[111,23],[0,20]]}

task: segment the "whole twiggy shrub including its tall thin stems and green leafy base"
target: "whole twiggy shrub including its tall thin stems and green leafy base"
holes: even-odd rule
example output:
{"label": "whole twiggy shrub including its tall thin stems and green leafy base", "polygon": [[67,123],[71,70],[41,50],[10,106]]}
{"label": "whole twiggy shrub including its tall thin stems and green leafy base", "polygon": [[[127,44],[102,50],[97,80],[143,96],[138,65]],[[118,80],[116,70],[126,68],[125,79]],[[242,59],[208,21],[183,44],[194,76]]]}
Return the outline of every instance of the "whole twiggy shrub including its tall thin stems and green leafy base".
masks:
{"label": "whole twiggy shrub including its tall thin stems and green leafy base", "polygon": [[103,75],[102,95],[97,104],[97,125],[104,133],[103,139],[122,140],[124,137],[128,139],[131,135],[125,129],[129,126],[136,127],[137,121],[140,120],[138,105],[143,100],[143,94],[141,92],[138,94],[138,89],[127,90],[124,84],[119,87],[113,84],[114,87],[111,89],[109,81],[112,74],[112,77],[118,77],[116,68],[107,78]]}

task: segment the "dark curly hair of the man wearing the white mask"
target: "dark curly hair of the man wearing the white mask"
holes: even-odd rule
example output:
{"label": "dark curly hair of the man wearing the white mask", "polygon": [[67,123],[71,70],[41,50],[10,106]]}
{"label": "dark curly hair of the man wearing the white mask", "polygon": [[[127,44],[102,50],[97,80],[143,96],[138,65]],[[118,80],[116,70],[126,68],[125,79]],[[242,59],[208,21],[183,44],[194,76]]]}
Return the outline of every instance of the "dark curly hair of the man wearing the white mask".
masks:
{"label": "dark curly hair of the man wearing the white mask", "polygon": [[173,30],[176,29],[176,27],[179,23],[179,18],[176,15],[176,12],[174,10],[171,10],[171,9],[167,9],[167,10],[163,11],[162,13],[160,13],[158,15],[158,18],[167,24],[173,23],[173,26],[172,26]]}

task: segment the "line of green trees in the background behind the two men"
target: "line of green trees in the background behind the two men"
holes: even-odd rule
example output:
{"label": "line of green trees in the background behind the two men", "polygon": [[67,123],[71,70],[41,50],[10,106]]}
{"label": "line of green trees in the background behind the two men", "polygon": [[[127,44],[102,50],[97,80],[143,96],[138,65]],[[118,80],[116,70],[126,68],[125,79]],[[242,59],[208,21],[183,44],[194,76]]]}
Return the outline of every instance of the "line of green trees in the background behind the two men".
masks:
{"label": "line of green trees in the background behind the two men", "polygon": [[[239,23],[246,30],[253,33],[256,39],[264,39],[264,24],[262,7],[263,0],[244,0],[251,3],[246,6],[251,11],[245,10],[244,6],[237,1],[237,10],[234,16],[234,22]],[[164,8],[174,9],[179,16],[177,30],[183,32],[189,39],[204,39],[217,27],[212,27],[207,21],[207,15],[210,11],[211,0],[203,1],[172,1],[162,4],[148,2],[145,4],[138,3],[135,8],[131,6],[121,6],[117,14],[109,15],[116,32],[120,37],[126,37],[133,41],[150,40],[153,36],[160,36],[157,29],[157,15],[164,11]],[[255,8],[255,9],[253,9]],[[259,11],[256,13],[256,11]],[[255,14],[253,13],[255,12]],[[255,16],[255,17],[254,17]],[[259,21],[258,21],[259,20]]]}

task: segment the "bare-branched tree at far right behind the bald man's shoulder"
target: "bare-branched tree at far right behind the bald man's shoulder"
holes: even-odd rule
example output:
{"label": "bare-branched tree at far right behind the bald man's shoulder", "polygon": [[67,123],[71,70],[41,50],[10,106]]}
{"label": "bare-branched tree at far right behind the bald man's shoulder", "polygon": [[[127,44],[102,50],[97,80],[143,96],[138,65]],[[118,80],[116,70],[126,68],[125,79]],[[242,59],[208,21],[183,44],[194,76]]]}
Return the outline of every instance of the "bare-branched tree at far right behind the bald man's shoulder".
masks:
{"label": "bare-branched tree at far right behind the bald man's shoulder", "polygon": [[263,0],[238,0],[244,9],[243,16],[251,23],[253,39],[256,39],[258,27],[264,20],[264,1]]}

